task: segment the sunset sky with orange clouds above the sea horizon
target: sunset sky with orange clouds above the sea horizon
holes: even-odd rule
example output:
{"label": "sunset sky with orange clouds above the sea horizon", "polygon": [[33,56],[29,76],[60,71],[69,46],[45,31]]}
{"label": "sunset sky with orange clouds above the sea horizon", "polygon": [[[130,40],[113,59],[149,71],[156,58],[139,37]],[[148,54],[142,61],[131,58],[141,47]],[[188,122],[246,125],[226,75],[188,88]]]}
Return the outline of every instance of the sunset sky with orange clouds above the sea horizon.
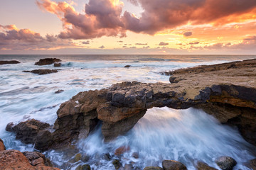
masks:
{"label": "sunset sky with orange clouds above the sea horizon", "polygon": [[256,0],[1,0],[0,54],[256,55]]}

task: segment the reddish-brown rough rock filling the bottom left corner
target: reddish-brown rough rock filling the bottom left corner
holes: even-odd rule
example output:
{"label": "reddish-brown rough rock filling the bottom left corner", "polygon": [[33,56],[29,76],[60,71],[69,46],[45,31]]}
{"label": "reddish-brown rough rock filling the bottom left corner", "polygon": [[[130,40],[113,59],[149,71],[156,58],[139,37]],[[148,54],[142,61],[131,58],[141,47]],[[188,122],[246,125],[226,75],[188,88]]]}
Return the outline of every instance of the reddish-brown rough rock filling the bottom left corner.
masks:
{"label": "reddish-brown rough rock filling the bottom left corner", "polygon": [[0,169],[60,170],[58,168],[46,166],[44,164],[43,154],[27,152],[26,155],[29,159],[18,150],[11,149],[1,151]]}

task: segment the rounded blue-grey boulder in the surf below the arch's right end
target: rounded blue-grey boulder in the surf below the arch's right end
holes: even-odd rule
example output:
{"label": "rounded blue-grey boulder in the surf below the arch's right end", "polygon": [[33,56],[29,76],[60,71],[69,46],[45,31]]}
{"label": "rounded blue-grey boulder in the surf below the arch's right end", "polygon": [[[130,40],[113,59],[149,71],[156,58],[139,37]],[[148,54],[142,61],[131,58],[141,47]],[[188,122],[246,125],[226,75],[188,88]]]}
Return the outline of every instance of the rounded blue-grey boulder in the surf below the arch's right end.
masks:
{"label": "rounded blue-grey boulder in the surf below the arch's right end", "polygon": [[219,157],[215,160],[215,163],[222,170],[232,170],[233,167],[237,164],[235,159],[233,159],[232,157]]}

